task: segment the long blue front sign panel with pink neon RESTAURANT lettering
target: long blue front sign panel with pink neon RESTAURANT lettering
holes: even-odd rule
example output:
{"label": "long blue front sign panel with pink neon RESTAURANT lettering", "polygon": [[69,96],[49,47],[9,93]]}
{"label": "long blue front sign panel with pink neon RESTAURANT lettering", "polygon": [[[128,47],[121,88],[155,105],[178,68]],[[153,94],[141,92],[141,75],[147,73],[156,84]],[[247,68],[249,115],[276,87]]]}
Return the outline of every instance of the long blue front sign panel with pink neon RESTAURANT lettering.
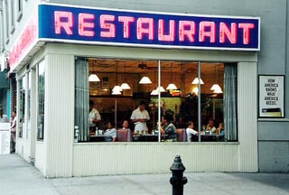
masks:
{"label": "long blue front sign panel with pink neon RESTAURANT lettering", "polygon": [[39,5],[39,38],[154,48],[259,51],[260,20]]}

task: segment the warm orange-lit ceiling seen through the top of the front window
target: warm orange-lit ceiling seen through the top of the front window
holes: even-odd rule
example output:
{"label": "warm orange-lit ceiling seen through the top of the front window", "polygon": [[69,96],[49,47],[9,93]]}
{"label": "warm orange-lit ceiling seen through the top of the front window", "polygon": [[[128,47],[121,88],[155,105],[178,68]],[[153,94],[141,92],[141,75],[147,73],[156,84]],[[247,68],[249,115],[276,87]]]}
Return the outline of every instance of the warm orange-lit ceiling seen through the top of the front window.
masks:
{"label": "warm orange-lit ceiling seen through the top of the front window", "polygon": [[[218,71],[223,72],[223,63],[201,62],[201,72],[206,74],[215,74]],[[157,60],[110,60],[110,59],[89,59],[89,72],[129,72],[140,73],[148,71],[157,71]],[[198,62],[188,61],[162,61],[162,71],[172,72],[197,72]]]}

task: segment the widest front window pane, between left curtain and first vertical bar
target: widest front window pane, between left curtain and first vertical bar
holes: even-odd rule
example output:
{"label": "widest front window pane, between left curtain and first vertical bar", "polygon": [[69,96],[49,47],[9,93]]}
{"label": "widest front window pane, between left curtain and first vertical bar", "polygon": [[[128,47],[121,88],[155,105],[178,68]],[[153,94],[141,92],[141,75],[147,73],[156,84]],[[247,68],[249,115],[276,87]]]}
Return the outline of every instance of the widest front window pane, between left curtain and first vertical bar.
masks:
{"label": "widest front window pane, between left curtain and first vertical bar", "polygon": [[[117,141],[132,141],[133,138],[138,139],[139,135],[157,134],[158,98],[151,93],[158,84],[158,61],[89,59],[88,77],[90,141],[109,132],[108,123],[114,125],[117,135],[121,134],[118,130],[129,129],[131,137],[119,135]],[[144,102],[145,110],[145,114],[143,109],[141,111],[144,114],[143,122],[138,115],[133,114],[141,102]],[[157,140],[156,135],[154,141]]]}

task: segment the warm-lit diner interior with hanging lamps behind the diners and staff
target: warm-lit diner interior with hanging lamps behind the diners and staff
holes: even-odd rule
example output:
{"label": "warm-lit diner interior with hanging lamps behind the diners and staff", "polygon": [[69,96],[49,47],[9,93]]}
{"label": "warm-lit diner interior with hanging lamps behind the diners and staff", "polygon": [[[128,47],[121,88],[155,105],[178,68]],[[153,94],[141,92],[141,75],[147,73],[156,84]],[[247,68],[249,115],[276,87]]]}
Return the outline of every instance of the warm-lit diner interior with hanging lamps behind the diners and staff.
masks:
{"label": "warm-lit diner interior with hanging lamps behind the diners and staff", "polygon": [[[223,122],[224,63],[90,58],[87,64],[89,100],[94,102],[101,116],[98,129],[106,130],[108,121],[114,121],[119,129],[127,120],[130,133],[134,135],[135,126],[130,116],[139,102],[144,101],[150,116],[148,131],[144,134],[155,134],[159,120],[159,92],[160,116],[170,112],[177,130],[185,129],[187,122],[192,121],[198,131],[198,98],[201,125],[207,125],[213,119],[217,128]],[[184,135],[180,135],[178,141],[186,141],[182,137]],[[198,137],[194,141],[198,141]]]}

